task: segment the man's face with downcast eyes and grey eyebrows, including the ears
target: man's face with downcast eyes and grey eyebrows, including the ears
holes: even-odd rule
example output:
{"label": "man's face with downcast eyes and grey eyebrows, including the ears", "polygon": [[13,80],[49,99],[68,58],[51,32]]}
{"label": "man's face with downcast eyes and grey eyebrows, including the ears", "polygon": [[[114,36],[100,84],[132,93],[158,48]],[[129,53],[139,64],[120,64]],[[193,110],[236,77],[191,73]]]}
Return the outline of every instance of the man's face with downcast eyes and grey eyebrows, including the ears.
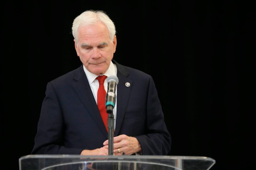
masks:
{"label": "man's face with downcast eyes and grey eyebrows, including the ears", "polygon": [[116,46],[116,36],[111,42],[109,31],[101,22],[78,29],[78,42],[75,42],[77,56],[85,68],[95,75],[104,74],[107,71]]}

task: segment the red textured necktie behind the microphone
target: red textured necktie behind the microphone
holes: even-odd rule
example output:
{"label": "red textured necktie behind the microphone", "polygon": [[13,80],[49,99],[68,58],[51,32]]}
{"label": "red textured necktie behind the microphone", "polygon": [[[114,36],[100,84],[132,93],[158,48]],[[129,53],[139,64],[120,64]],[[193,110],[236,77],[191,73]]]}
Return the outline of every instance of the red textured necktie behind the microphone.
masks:
{"label": "red textured necktie behind the microphone", "polygon": [[[107,76],[102,75],[102,76],[98,76],[96,79],[99,81],[99,88],[98,88],[98,92],[97,92],[97,105],[99,108],[99,112],[101,113],[101,118],[103,120],[103,123],[105,125],[105,128],[107,129],[107,117],[108,117],[108,113],[106,111],[106,91],[104,88],[104,81],[107,78]],[[109,132],[109,130],[107,129],[107,132]]]}

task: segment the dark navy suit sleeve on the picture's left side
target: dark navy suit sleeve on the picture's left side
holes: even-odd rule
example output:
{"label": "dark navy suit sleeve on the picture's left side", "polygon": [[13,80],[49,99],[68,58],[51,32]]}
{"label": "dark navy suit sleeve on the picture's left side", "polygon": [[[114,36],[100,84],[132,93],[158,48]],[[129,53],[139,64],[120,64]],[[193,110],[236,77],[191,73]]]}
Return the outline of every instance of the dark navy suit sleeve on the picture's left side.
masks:
{"label": "dark navy suit sleeve on the picture's left side", "polygon": [[35,145],[31,154],[79,154],[81,148],[64,147],[63,116],[58,97],[49,82],[46,88]]}

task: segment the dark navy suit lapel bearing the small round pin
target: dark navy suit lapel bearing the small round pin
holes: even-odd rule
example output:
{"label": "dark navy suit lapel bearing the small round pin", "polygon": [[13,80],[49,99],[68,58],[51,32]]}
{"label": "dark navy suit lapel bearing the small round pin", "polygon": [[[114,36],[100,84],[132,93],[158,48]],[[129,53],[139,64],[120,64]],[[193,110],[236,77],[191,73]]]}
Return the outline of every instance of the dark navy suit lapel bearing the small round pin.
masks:
{"label": "dark navy suit lapel bearing the small round pin", "polygon": [[[113,60],[112,62],[117,65],[117,77],[119,80],[117,84],[117,118],[115,122],[115,135],[114,135],[114,136],[118,136],[119,130],[123,122],[123,117],[125,115],[125,110],[128,104],[133,81],[127,78],[129,73],[125,70],[124,66],[118,64]],[[125,86],[126,82],[130,83],[129,87]]]}

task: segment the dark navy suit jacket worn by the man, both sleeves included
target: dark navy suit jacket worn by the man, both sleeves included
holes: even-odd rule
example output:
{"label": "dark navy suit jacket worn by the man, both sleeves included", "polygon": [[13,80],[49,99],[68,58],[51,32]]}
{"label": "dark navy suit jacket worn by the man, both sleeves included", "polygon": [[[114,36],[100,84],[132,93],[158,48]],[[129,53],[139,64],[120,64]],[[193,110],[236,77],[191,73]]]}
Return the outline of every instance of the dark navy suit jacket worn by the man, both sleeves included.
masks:
{"label": "dark navy suit jacket worn by the man, both sleeves included", "polygon": [[[114,136],[137,138],[143,155],[167,155],[171,136],[152,77],[112,61],[119,79]],[[31,154],[80,154],[107,139],[83,65],[47,84]]]}

